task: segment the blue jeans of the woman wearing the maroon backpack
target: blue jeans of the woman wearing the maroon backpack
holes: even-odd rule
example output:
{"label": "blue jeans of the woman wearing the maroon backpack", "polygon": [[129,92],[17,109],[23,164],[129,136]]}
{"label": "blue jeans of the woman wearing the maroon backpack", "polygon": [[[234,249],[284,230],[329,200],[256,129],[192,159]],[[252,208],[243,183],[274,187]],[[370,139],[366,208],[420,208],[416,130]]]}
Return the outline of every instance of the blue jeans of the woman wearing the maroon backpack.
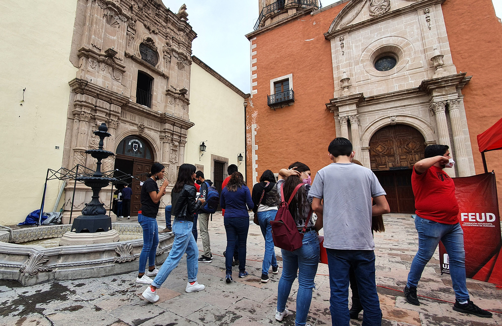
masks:
{"label": "blue jeans of the woman wearing the maroon backpack", "polygon": [[291,286],[298,272],[295,325],[305,325],[312,301],[312,288],[319,264],[319,238],[315,231],[306,232],[302,246],[295,251],[281,249],[283,271],[277,289],[277,311],[286,309]]}

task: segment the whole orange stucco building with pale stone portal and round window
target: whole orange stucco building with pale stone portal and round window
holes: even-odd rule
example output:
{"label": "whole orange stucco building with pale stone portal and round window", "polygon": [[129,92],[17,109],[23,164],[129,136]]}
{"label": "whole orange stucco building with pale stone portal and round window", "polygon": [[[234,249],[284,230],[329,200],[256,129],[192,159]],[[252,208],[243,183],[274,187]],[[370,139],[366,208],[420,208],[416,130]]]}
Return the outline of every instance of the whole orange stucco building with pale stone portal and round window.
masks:
{"label": "whole orange stucco building with pale stone portal and round window", "polygon": [[[315,0],[263,0],[246,37],[249,186],[297,160],[314,176],[331,162],[336,136],[352,141],[394,212],[413,211],[411,167],[427,144],[450,146],[450,176],[483,172],[476,135],[502,117],[502,24],[491,0],[344,0],[322,9]],[[502,152],[486,160],[500,202]]]}

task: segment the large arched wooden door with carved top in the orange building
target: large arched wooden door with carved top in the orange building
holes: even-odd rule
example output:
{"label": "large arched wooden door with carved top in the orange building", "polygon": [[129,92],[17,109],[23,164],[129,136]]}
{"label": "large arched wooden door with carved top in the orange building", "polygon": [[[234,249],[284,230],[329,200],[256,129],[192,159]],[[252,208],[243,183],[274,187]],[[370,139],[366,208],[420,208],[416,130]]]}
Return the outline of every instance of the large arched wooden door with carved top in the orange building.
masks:
{"label": "large arched wooden door with carved top in the orange building", "polygon": [[424,158],[424,149],[424,136],[404,124],[384,127],[371,137],[371,170],[387,192],[392,213],[415,212],[411,174],[413,165]]}

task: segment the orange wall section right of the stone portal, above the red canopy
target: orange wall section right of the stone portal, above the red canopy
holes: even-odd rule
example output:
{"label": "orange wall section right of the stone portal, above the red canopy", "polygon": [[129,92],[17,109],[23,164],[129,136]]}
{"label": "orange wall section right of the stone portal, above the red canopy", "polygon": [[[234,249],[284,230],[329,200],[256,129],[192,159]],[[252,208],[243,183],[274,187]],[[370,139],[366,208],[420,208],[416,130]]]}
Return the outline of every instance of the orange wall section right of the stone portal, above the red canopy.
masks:
{"label": "orange wall section right of the stone portal, above the red canopy", "polygon": [[[474,8],[473,8],[474,6]],[[483,173],[476,136],[502,118],[502,25],[491,0],[447,0],[443,15],[453,63],[472,79],[463,89],[476,174]],[[502,151],[486,154],[488,171],[497,178],[498,206],[502,208]]]}

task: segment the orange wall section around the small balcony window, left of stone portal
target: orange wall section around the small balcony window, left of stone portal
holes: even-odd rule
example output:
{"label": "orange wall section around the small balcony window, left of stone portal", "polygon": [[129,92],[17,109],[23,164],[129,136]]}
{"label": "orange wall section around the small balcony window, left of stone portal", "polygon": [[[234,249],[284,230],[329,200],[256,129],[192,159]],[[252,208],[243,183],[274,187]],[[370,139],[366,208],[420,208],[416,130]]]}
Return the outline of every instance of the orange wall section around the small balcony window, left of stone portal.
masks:
{"label": "orange wall section around the small balcony window, left of stone portal", "polygon": [[[336,135],[333,113],[325,103],[333,98],[333,71],[330,43],[323,34],[342,8],[308,14],[253,41],[258,93],[247,106],[249,186],[253,185],[250,125],[255,122],[258,179],[267,169],[277,173],[295,161],[308,165],[312,176],[330,164],[328,145]],[[274,111],[267,105],[270,80],[288,74],[293,74],[295,102]]]}

